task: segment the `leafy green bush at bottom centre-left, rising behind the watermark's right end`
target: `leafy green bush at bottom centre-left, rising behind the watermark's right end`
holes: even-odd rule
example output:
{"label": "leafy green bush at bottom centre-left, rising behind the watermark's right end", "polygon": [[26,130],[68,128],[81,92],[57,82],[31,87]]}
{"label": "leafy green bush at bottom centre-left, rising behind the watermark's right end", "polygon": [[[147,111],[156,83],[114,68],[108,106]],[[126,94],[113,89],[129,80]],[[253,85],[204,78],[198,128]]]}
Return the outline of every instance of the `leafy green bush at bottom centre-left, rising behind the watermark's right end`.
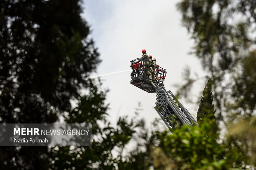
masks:
{"label": "leafy green bush at bottom centre-left, rising behind the watermark's right end", "polygon": [[[148,150],[145,151],[144,147],[149,143],[145,122],[125,116],[119,118],[114,128],[107,117],[101,117],[106,116],[104,97],[94,86],[86,96],[88,99],[84,98],[81,105],[66,117],[69,123],[92,123],[92,146],[52,147],[50,169],[121,170],[144,167],[143,162],[148,155]],[[100,98],[102,107],[89,107],[95,104],[94,100],[97,98]],[[130,142],[133,142],[136,149],[129,149]]]}

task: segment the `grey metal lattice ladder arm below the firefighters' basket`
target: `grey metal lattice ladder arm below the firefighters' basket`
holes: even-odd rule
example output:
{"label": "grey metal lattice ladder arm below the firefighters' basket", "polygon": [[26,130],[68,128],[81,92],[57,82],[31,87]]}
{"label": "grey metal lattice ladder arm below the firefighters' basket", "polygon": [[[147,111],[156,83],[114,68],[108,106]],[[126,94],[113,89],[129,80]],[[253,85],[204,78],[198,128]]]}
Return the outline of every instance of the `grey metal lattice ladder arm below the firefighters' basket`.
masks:
{"label": "grey metal lattice ladder arm below the firefighters' basket", "polygon": [[182,125],[199,126],[173,93],[166,91],[163,86],[156,87],[156,106],[154,108],[171,131]]}

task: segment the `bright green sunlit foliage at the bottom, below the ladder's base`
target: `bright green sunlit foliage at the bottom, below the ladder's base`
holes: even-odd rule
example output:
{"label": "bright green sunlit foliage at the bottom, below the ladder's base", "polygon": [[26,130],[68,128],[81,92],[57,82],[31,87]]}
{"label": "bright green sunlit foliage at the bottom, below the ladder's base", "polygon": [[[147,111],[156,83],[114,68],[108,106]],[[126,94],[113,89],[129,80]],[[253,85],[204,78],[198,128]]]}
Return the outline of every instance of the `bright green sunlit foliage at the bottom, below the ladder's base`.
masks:
{"label": "bright green sunlit foliage at the bottom, below the ladder's base", "polygon": [[247,157],[233,147],[229,138],[217,143],[218,133],[207,136],[211,130],[209,123],[190,129],[187,131],[183,126],[173,135],[167,131],[156,134],[156,144],[151,151],[155,169],[224,170],[244,166]]}

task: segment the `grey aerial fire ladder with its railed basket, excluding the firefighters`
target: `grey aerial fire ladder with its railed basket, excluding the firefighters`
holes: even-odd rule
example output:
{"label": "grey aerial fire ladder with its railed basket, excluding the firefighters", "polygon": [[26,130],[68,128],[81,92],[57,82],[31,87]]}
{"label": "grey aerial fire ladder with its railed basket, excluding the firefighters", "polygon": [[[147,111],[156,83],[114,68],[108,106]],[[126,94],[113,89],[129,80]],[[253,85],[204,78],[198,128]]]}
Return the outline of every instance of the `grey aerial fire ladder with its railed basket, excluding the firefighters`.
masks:
{"label": "grey aerial fire ladder with its railed basket, excluding the firefighters", "polygon": [[130,68],[131,81],[134,86],[146,91],[147,93],[156,93],[156,112],[164,121],[166,126],[172,132],[176,128],[183,125],[189,127],[196,125],[199,126],[197,121],[187,111],[187,109],[178,101],[171,91],[166,91],[164,88],[164,79],[166,78],[166,69],[156,65],[155,79],[156,84],[148,80],[149,73],[143,74],[144,70],[149,70],[145,66],[146,59],[136,58],[131,62]]}

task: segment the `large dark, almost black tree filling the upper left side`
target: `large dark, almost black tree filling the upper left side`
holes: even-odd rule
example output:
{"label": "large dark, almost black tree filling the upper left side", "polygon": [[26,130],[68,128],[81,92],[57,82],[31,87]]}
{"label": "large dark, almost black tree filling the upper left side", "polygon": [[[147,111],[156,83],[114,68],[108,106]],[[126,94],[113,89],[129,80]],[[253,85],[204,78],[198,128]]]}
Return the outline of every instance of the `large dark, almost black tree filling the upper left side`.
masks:
{"label": "large dark, almost black tree filling the upper left side", "polygon": [[[0,123],[53,123],[82,102],[100,59],[81,12],[80,0],[0,2]],[[47,169],[47,150],[1,147],[1,169]]]}

